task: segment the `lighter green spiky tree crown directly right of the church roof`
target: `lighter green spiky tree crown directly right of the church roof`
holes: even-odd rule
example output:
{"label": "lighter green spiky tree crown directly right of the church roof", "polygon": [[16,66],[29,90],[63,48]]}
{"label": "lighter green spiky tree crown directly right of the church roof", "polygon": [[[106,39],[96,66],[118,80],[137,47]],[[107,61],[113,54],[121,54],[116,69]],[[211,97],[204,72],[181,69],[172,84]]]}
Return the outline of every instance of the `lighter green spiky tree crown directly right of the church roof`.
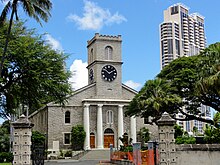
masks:
{"label": "lighter green spiky tree crown directly right of the church roof", "polygon": [[175,114],[181,99],[171,91],[172,87],[166,80],[148,80],[129,104],[126,115],[151,117],[148,123],[152,124],[157,123],[165,111]]}

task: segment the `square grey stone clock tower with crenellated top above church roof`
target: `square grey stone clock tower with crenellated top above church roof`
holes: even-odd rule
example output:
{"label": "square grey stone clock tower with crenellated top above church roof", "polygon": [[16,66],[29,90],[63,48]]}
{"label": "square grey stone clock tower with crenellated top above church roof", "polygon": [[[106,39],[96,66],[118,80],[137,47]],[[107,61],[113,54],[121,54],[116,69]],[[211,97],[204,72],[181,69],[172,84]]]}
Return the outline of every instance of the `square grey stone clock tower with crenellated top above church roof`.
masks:
{"label": "square grey stone clock tower with crenellated top above church roof", "polygon": [[88,81],[96,85],[96,98],[118,99],[122,96],[121,42],[121,35],[99,33],[87,42]]}

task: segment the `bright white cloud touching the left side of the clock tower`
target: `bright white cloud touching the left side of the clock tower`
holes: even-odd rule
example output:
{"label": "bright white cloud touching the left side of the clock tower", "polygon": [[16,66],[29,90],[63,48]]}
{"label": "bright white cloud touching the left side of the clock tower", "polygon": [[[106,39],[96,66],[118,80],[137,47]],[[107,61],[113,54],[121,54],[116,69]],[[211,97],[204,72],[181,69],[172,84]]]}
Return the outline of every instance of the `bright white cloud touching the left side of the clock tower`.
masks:
{"label": "bright white cloud touching the left side of the clock tower", "polygon": [[69,79],[69,82],[71,83],[74,90],[88,85],[88,70],[86,68],[87,65],[87,62],[83,63],[82,60],[75,60],[70,66],[72,76]]}

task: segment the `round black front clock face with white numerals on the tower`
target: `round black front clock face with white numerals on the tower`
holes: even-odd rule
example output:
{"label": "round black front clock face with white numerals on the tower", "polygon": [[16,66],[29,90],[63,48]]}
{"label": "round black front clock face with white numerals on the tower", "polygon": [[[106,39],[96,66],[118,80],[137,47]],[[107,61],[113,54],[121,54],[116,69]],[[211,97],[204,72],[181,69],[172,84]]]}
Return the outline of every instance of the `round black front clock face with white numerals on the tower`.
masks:
{"label": "round black front clock face with white numerals on the tower", "polygon": [[117,77],[117,70],[112,65],[105,65],[101,71],[102,78],[106,81],[113,81]]}

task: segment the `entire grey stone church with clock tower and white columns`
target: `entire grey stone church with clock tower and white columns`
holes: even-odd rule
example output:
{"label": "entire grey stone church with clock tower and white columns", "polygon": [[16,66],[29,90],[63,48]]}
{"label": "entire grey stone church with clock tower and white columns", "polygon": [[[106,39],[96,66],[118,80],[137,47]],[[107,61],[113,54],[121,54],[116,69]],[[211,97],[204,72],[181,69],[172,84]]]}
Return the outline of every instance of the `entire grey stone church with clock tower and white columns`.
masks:
{"label": "entire grey stone church with clock tower and white columns", "polygon": [[137,92],[122,84],[121,42],[120,35],[96,33],[87,42],[88,85],[69,96],[65,106],[49,103],[29,116],[33,129],[47,135],[48,150],[71,148],[71,129],[77,124],[86,132],[85,150],[118,147],[124,133],[137,141],[137,132],[147,125],[124,114]]}

